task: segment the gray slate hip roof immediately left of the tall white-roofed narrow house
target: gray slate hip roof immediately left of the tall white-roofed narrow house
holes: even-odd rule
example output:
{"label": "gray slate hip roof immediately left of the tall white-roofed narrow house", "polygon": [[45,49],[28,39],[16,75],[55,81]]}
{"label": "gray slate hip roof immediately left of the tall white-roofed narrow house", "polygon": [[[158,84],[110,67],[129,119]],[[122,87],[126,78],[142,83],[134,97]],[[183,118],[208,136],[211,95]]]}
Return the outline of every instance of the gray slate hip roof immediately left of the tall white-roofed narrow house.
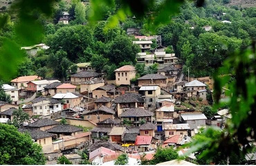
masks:
{"label": "gray slate hip roof immediately left of the tall white-roofed narrow house", "polygon": [[144,99],[138,93],[125,93],[114,99],[114,103],[131,103],[131,102],[144,102]]}

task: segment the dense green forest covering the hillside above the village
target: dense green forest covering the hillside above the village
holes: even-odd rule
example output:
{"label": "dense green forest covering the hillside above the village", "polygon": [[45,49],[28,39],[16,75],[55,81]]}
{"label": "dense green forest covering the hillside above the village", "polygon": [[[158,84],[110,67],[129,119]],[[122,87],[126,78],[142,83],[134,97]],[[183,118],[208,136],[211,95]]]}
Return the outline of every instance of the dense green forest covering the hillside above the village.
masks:
{"label": "dense green forest covering the hillside above the village", "polygon": [[[152,10],[157,10],[161,3],[162,0],[155,1]],[[180,13],[169,17],[168,24],[160,24],[152,29],[147,24],[150,13],[146,17],[126,16],[125,21],[119,22],[117,26],[107,27],[110,16],[119,8],[118,1],[111,8],[101,6],[99,11],[102,21],[91,24],[88,21],[91,15],[89,2],[74,0],[66,3],[61,0],[56,2],[51,17],[33,11],[33,16],[43,25],[45,32],[35,44],[45,43],[50,48],[40,50],[35,57],[25,56],[13,67],[17,67],[16,76],[38,74],[63,79],[67,77],[68,69],[75,70],[76,63],[91,62],[97,71],[103,70],[108,79],[113,79],[116,68],[125,64],[136,65],[136,55],[140,49],[132,44],[135,39],[128,37],[126,30],[140,28],[142,35],[162,36],[166,52],[174,52],[180,58],[179,63],[184,64],[184,73],[189,67],[191,76],[209,76],[230,53],[246,48],[255,41],[256,8],[227,7],[226,3],[227,0],[206,0],[202,7],[196,7],[194,2],[185,1]],[[58,23],[63,11],[70,13],[69,24]],[[15,40],[20,47],[27,46],[15,35],[15,25],[18,24],[15,17],[4,10],[0,16],[6,15],[8,24],[0,30],[0,44],[8,38]],[[231,24],[221,22],[223,20],[231,21]],[[212,29],[202,29],[206,25]],[[141,65],[136,65],[136,68],[141,71],[138,72],[140,76],[156,72],[156,66],[148,72],[141,70]]]}

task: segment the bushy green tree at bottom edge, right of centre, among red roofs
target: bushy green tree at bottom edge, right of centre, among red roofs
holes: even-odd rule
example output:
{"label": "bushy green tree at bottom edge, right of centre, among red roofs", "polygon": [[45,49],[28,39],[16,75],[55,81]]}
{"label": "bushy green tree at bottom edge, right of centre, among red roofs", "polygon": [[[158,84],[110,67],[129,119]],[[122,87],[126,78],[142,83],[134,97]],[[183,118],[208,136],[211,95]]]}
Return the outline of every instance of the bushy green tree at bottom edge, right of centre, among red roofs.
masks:
{"label": "bushy green tree at bottom edge, right of centre, among red roofs", "polygon": [[152,159],[152,165],[171,161],[179,157],[178,150],[173,149],[173,147],[168,148],[158,148],[154,157]]}

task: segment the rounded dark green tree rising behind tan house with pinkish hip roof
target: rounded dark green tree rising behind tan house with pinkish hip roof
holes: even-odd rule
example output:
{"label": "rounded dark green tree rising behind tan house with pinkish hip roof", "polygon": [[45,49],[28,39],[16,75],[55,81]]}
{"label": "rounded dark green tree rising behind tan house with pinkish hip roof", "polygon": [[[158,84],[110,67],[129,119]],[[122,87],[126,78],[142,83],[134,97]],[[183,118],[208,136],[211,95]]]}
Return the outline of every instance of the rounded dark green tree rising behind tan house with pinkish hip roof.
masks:
{"label": "rounded dark green tree rising behind tan house with pinkish hip roof", "polygon": [[123,61],[135,63],[139,51],[138,45],[132,44],[127,36],[117,36],[109,48],[108,57],[116,65]]}

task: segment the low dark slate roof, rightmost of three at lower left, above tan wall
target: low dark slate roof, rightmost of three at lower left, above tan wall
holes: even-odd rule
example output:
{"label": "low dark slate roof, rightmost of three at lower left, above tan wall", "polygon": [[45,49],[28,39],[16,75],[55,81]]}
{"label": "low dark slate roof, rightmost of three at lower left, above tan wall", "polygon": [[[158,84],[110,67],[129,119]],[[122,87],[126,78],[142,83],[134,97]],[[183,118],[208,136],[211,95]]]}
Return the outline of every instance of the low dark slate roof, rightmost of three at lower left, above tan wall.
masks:
{"label": "low dark slate roof, rightmost of three at lower left, above tan wall", "polygon": [[63,133],[63,132],[76,132],[76,131],[81,131],[83,130],[82,128],[75,127],[70,124],[59,124],[51,129],[46,130],[47,132],[50,133]]}

